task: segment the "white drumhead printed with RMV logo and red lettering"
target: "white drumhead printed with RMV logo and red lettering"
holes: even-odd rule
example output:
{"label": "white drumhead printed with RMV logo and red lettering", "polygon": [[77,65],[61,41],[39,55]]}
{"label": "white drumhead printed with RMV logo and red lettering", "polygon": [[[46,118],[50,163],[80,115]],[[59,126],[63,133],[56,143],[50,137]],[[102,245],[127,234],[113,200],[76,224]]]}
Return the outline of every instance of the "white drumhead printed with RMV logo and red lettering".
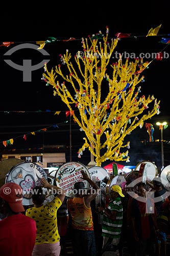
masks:
{"label": "white drumhead printed with RMV logo and red lettering", "polygon": [[72,190],[74,190],[74,184],[76,182],[83,181],[85,188],[89,189],[90,187],[90,184],[86,180],[82,179],[83,178],[81,173],[82,170],[90,178],[88,169],[82,163],[79,163],[79,162],[64,163],[58,168],[55,174],[54,184],[64,189],[66,191],[67,197],[74,197],[75,194],[72,193]]}

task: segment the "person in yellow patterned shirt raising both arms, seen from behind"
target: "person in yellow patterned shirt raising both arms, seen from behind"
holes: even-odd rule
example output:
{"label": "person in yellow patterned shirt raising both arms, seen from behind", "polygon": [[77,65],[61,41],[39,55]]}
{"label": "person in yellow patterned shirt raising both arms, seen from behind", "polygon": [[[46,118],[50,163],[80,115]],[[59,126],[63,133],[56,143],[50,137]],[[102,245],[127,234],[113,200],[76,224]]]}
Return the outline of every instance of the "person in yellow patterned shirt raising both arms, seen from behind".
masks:
{"label": "person in yellow patterned shirt raising both arms, seen from behind", "polygon": [[[37,226],[35,246],[32,256],[59,256],[61,251],[60,235],[57,227],[57,210],[65,198],[65,190],[49,184],[41,178],[42,186],[36,186],[32,195],[34,206],[26,210],[26,216],[34,219]],[[44,204],[46,195],[42,187],[51,190],[54,199]]]}

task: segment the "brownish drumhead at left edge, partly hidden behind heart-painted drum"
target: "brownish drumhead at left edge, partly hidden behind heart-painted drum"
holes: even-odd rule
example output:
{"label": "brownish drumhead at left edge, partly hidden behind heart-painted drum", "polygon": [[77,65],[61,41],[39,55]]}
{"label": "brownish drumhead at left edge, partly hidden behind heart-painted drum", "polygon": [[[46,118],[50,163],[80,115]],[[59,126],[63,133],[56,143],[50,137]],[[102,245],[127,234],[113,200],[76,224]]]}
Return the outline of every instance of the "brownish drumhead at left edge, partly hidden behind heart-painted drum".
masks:
{"label": "brownish drumhead at left edge, partly hidden behind heart-painted drum", "polygon": [[0,162],[0,187],[5,184],[6,175],[16,164],[24,162],[19,158],[9,158]]}

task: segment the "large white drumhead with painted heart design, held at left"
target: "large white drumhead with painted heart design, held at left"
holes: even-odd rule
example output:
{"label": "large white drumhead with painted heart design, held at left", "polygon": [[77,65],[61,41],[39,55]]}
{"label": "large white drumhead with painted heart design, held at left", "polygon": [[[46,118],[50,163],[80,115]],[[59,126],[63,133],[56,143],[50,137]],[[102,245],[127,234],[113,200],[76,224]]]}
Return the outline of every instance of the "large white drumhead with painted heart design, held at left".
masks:
{"label": "large white drumhead with painted heart design, held at left", "polygon": [[32,193],[31,190],[35,186],[42,185],[41,178],[44,177],[47,180],[47,175],[44,169],[36,163],[23,162],[17,164],[8,173],[6,183],[14,182],[21,186],[23,191],[23,205],[32,205]]}

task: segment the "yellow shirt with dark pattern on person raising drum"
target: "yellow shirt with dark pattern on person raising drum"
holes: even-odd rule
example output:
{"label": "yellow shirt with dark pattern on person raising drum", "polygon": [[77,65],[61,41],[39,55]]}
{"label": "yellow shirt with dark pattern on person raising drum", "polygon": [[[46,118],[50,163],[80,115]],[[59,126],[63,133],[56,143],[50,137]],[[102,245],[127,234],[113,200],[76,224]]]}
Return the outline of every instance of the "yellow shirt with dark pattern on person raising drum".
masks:
{"label": "yellow shirt with dark pattern on person raising drum", "polygon": [[50,244],[60,241],[57,228],[57,210],[61,204],[61,200],[55,197],[50,203],[26,210],[26,216],[36,221],[37,234],[35,244]]}

